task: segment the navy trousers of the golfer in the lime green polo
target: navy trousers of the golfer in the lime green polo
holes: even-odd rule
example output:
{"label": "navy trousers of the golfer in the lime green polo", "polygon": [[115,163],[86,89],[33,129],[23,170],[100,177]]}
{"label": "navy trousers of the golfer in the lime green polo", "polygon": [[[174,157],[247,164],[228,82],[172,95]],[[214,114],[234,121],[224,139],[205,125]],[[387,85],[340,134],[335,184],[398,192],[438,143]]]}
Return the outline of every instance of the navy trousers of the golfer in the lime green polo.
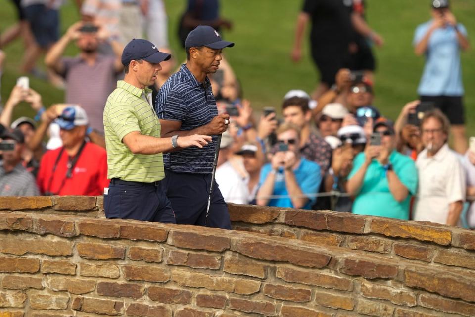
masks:
{"label": "navy trousers of the golfer in the lime green polo", "polygon": [[104,192],[105,216],[176,223],[175,214],[163,191],[162,182],[149,184],[112,179],[107,194]]}

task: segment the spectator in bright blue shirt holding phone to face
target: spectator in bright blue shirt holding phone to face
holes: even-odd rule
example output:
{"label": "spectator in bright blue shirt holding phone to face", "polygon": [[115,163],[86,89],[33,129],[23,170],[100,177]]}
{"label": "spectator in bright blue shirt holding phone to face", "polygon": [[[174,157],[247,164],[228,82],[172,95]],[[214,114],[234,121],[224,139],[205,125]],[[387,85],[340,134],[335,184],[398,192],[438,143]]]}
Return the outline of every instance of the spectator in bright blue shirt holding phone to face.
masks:
{"label": "spectator in bright blue shirt holding phone to face", "polygon": [[283,123],[277,129],[281,150],[261,170],[258,205],[311,209],[317,200],[316,194],[322,181],[320,166],[301,155],[299,130],[290,122]]}

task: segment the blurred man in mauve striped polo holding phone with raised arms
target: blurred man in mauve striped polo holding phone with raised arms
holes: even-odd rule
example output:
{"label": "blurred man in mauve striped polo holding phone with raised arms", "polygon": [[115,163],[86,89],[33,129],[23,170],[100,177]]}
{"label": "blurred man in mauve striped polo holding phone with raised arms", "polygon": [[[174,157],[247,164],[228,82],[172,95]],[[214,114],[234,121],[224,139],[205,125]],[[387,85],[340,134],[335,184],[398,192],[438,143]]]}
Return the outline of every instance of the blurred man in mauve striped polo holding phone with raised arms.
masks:
{"label": "blurred man in mauve striped polo holding phone with raised arms", "polygon": [[[110,42],[115,57],[97,51],[100,41],[107,38],[105,28],[77,22],[69,27],[45,58],[47,66],[66,80],[66,103],[82,106],[91,118],[90,126],[101,134],[104,134],[102,115],[107,96],[115,88],[116,75],[124,69],[120,61],[122,46],[117,41]],[[81,53],[77,57],[62,57],[73,40],[77,40]]]}

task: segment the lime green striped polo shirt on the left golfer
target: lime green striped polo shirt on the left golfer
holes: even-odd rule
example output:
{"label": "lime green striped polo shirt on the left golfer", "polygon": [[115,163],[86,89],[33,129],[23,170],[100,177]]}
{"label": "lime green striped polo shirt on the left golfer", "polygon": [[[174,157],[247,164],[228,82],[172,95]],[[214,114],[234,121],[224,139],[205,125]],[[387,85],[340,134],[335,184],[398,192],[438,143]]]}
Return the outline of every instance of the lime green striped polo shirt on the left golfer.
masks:
{"label": "lime green striped polo shirt on the left golfer", "polygon": [[119,80],[117,88],[107,98],[104,134],[109,179],[151,183],[165,177],[161,153],[133,154],[122,143],[124,136],[133,131],[160,137],[160,121],[144,97],[150,93],[148,88],[140,89]]}

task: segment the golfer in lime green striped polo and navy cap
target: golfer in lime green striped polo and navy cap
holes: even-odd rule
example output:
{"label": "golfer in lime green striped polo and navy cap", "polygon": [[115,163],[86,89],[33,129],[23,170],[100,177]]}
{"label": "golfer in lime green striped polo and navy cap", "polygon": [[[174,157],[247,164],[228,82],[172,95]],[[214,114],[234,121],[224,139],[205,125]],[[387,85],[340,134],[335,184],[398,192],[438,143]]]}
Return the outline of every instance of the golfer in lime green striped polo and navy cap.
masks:
{"label": "golfer in lime green striped polo and navy cap", "polygon": [[159,52],[147,40],[134,39],[122,53],[123,81],[107,98],[104,132],[109,188],[104,189],[107,218],[176,223],[160,181],[165,177],[162,152],[199,147],[210,136],[160,137],[160,121],[151,103],[151,90],[160,62],[170,54]]}

